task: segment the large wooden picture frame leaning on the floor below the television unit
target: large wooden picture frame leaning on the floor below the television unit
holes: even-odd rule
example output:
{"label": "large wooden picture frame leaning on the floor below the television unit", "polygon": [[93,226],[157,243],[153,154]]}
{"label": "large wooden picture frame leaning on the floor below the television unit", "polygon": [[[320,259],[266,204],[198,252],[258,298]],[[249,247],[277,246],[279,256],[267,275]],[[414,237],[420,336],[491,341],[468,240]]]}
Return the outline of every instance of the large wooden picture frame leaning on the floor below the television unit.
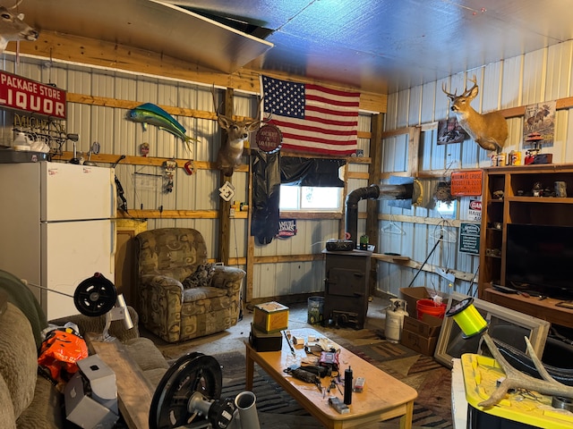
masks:
{"label": "large wooden picture frame leaning on the floor below the television unit", "polygon": [[[467,295],[453,292],[449,296],[447,308],[456,306],[467,298]],[[487,322],[487,332],[493,339],[503,341],[520,351],[526,352],[525,337],[527,337],[537,357],[543,356],[547,333],[551,326],[549,322],[492,304],[483,299],[474,299],[473,304]],[[440,364],[451,368],[453,366],[451,359],[461,357],[464,353],[491,356],[481,335],[464,339],[462,331],[454,319],[448,316],[444,317],[434,358]]]}

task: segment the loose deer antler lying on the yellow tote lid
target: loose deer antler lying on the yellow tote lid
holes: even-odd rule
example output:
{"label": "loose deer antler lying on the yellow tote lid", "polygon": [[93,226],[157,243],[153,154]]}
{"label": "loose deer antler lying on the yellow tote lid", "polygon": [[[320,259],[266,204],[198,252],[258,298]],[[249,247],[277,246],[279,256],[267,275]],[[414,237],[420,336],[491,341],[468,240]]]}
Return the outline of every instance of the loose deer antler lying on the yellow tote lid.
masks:
{"label": "loose deer antler lying on the yellow tote lid", "polygon": [[547,372],[543,363],[539,360],[537,355],[535,355],[535,350],[526,337],[527,352],[531,357],[535,368],[539,374],[543,377],[543,380],[532,377],[517,371],[516,368],[510,366],[505,357],[501,356],[500,350],[497,349],[495,343],[492,341],[490,335],[486,332],[483,334],[483,341],[487,344],[488,349],[492,352],[492,357],[497,361],[497,363],[503,369],[505,373],[505,379],[500,383],[498,388],[493,391],[492,396],[488,400],[483,400],[479,404],[480,407],[492,407],[497,404],[503,397],[507,394],[510,389],[526,388],[532,391],[538,391],[539,393],[544,393],[553,396],[562,396],[565,398],[573,398],[573,386],[568,386],[566,384],[559,383]]}

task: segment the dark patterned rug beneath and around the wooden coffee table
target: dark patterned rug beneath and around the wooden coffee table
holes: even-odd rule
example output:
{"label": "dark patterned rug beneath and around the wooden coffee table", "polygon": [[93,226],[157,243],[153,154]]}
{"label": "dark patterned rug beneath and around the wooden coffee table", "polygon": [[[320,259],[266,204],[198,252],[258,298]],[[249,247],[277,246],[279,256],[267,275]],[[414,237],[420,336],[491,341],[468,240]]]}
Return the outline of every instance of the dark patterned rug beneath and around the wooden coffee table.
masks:
{"label": "dark patterned rug beneath and around the wooden coffee table", "polygon": [[[394,358],[385,357],[388,350],[392,350]],[[399,344],[380,341],[380,339],[370,348],[361,345],[357,347],[357,350],[352,351],[358,351],[361,353],[360,356],[372,365],[381,368],[418,391],[412,421],[416,428],[447,429],[453,427],[450,400],[451,373],[448,368],[435,362],[432,357],[415,354],[412,350]],[[379,356],[381,356],[381,361],[377,360]],[[244,355],[240,352],[229,352],[214,355],[214,357],[221,365],[223,374],[221,397],[234,397],[244,391]],[[322,427],[290,395],[283,391],[269,374],[256,364],[254,366],[252,391],[257,397],[256,407],[261,418],[261,427],[265,427],[268,422],[278,423],[282,421],[282,416],[297,416],[295,425],[285,425],[284,427],[296,427],[297,429]],[[389,420],[385,422],[383,427],[398,427],[398,420]],[[273,427],[276,428],[277,425]]]}

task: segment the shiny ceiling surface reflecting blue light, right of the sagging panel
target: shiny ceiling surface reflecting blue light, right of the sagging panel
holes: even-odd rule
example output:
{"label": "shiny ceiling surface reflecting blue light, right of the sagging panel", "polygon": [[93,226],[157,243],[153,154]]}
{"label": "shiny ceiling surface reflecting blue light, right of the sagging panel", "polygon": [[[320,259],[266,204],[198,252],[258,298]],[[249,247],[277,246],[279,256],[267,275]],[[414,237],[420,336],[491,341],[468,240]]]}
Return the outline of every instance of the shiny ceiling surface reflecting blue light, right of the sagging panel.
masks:
{"label": "shiny ceiling surface reflecting blue light, right of the sagging panel", "polygon": [[250,63],[388,93],[573,37],[562,0],[168,0],[263,25]]}

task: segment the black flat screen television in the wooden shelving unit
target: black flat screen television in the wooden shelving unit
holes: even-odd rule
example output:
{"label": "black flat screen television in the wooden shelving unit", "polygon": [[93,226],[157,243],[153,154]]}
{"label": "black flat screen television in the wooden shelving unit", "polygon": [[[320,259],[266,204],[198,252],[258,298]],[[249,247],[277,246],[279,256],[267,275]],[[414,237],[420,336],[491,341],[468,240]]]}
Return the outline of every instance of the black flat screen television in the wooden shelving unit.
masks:
{"label": "black flat screen television in the wooden shelving unit", "polygon": [[509,223],[505,285],[573,299],[573,226]]}

